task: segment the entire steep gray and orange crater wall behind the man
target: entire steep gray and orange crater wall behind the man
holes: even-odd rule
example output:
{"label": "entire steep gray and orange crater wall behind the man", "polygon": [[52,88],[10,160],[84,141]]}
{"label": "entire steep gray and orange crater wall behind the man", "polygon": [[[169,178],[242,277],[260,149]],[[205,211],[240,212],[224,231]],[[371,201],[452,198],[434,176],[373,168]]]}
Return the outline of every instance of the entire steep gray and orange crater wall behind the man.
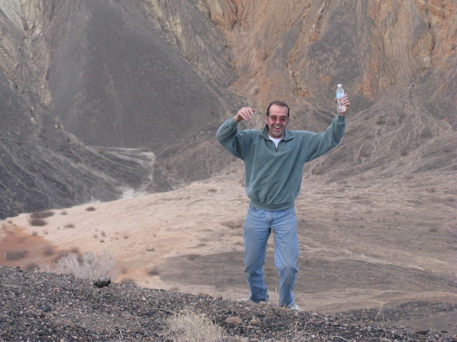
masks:
{"label": "entire steep gray and orange crater wall behind the man", "polygon": [[242,127],[260,128],[281,98],[292,128],[321,131],[337,83],[351,96],[348,134],[305,176],[434,172],[452,192],[455,1],[4,0],[0,10],[2,217],[206,178],[233,161],[214,133],[241,104],[260,113]]}

